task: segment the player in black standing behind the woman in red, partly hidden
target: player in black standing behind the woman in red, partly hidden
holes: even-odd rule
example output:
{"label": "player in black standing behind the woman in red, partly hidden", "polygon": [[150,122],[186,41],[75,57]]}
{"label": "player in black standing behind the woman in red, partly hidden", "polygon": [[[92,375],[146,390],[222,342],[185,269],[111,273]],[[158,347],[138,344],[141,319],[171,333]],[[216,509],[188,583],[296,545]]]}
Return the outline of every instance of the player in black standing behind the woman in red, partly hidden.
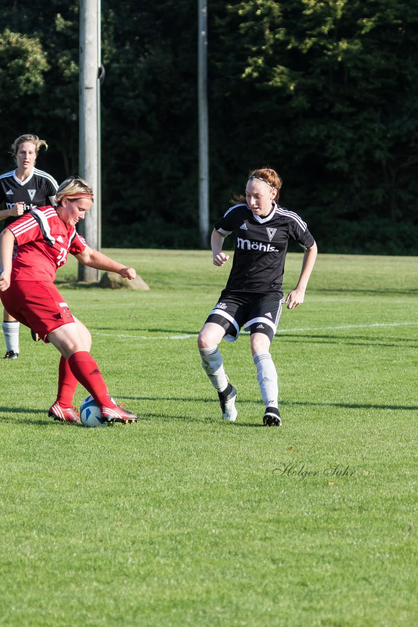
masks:
{"label": "player in black standing behind the woman in red, partly hidden", "polygon": [[[37,135],[20,135],[11,146],[11,154],[17,168],[0,176],[0,204],[6,209],[0,211],[3,226],[8,226],[26,211],[34,207],[53,205],[58,185],[55,179],[35,167],[38,150],[41,146],[48,149],[48,144]],[[19,355],[19,322],[3,310],[3,333],[6,340],[4,359],[17,359]],[[38,335],[31,332],[37,341]]]}

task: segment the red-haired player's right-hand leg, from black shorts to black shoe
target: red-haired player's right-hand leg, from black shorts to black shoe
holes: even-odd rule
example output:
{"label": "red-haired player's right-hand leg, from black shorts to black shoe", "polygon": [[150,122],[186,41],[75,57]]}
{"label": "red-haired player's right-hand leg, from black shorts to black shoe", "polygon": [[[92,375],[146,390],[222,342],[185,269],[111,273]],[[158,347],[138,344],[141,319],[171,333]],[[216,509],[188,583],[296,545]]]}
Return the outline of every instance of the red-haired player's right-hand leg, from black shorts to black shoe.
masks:
{"label": "red-haired player's right-hand leg, from black shorts to black shoe", "polygon": [[263,423],[281,426],[278,406],[278,376],[270,354],[271,340],[277,329],[283,299],[281,295],[265,295],[254,304],[251,319],[245,327],[251,330],[251,352],[257,369],[257,381],[265,411]]}

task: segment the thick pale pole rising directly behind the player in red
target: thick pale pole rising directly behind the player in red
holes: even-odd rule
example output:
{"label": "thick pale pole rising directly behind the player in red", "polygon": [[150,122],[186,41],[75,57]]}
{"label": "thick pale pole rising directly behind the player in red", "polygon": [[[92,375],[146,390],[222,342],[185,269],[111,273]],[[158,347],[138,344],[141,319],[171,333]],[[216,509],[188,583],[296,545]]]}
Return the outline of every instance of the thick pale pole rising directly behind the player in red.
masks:
{"label": "thick pale pole rising directly behind the player in red", "polygon": [[[100,0],[80,0],[79,170],[95,194],[80,231],[91,248],[100,248]],[[78,280],[95,283],[100,271],[78,264]]]}

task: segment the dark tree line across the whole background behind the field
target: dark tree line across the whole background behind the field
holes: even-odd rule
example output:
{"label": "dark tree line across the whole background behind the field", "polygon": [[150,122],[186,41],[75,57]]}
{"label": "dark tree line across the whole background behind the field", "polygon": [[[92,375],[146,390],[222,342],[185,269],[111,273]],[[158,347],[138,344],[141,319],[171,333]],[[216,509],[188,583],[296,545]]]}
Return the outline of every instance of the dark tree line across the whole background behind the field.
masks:
{"label": "dark tree line across the whole background behind the field", "polygon": [[[0,15],[1,172],[24,132],[37,166],[78,173],[78,2]],[[322,252],[417,255],[418,4],[208,0],[211,221],[248,172]],[[102,0],[104,246],[199,246],[197,3]]]}

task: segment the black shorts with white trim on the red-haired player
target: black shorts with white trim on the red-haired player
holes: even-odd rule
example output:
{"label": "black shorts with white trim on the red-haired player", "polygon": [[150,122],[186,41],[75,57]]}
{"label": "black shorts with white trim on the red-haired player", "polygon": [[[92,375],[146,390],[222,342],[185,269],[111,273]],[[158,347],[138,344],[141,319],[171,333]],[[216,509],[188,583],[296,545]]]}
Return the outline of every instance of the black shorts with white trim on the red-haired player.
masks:
{"label": "black shorts with white trim on the red-haired player", "polygon": [[238,340],[239,329],[268,335],[270,341],[276,333],[281,306],[281,292],[251,293],[223,290],[221,297],[208,315],[206,322],[214,322],[225,329],[227,342]]}

